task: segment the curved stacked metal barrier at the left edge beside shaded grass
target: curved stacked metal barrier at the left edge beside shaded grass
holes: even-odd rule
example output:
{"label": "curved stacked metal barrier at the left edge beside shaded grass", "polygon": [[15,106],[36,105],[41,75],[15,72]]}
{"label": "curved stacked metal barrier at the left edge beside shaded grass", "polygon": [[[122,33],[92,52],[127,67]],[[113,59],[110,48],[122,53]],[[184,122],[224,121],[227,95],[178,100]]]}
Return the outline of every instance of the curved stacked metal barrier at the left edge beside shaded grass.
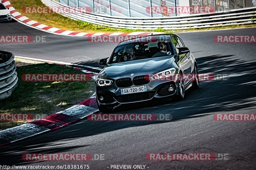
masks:
{"label": "curved stacked metal barrier at the left edge beside shaded grass", "polygon": [[0,51],[0,100],[12,94],[17,82],[18,76],[14,55],[6,51]]}

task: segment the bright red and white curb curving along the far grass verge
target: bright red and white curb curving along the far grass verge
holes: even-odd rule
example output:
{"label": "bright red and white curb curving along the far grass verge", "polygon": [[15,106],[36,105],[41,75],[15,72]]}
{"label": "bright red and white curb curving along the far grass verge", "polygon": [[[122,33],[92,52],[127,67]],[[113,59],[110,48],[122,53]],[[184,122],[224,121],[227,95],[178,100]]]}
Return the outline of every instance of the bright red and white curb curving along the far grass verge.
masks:
{"label": "bright red and white curb curving along the far grass verge", "polygon": [[18,21],[21,24],[27,25],[29,27],[35,28],[37,30],[41,30],[48,33],[65,35],[65,36],[75,36],[75,37],[90,37],[90,36],[125,36],[125,35],[133,35],[133,36],[143,36],[143,35],[150,35],[152,32],[114,32],[114,33],[105,33],[105,32],[98,32],[98,33],[88,33],[88,32],[75,32],[69,30],[63,30],[60,28],[44,25],[38,23],[35,20],[29,19],[26,16],[23,16],[20,12],[13,8],[12,4],[8,0],[2,0],[2,4],[9,8],[9,12],[12,15],[12,18]]}

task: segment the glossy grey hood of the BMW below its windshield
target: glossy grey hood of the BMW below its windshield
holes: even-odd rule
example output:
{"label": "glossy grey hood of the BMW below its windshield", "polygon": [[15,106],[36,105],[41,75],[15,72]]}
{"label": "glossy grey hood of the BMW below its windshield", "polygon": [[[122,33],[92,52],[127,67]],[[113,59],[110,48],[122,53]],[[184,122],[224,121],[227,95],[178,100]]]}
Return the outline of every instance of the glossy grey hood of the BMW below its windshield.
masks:
{"label": "glossy grey hood of the BMW below its windshield", "polygon": [[169,68],[173,60],[173,56],[164,56],[109,64],[100,72],[100,75],[107,77],[123,77],[126,74],[130,75],[132,73],[135,75],[141,75],[142,73],[152,74]]}

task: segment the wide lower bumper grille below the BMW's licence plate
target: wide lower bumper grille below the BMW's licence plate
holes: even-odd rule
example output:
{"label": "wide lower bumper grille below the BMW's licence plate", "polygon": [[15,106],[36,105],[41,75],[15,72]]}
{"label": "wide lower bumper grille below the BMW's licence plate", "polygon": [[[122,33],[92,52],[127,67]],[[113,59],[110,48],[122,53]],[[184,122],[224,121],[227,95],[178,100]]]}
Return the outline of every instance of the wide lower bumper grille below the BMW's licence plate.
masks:
{"label": "wide lower bumper grille below the BMW's licence plate", "polygon": [[142,93],[135,93],[135,94],[129,94],[129,95],[120,95],[116,96],[115,99],[119,103],[129,103],[129,102],[138,102],[143,100],[148,100],[154,97],[156,94],[156,91],[150,91],[150,92],[142,92]]}

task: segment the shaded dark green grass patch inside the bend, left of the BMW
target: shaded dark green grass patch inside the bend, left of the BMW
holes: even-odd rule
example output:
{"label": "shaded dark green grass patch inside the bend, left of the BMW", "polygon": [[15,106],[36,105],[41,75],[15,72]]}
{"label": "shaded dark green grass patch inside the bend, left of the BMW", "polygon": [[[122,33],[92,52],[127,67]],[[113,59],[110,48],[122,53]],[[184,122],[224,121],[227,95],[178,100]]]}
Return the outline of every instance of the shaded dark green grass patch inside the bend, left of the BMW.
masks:
{"label": "shaded dark green grass patch inside the bend, left of the BMW", "polygon": [[[83,74],[81,71],[59,65],[28,64],[16,60],[18,86],[12,95],[0,102],[1,114],[26,113],[51,115],[89,98],[94,92],[94,81],[22,81],[22,74]],[[0,130],[26,121],[0,121]]]}

